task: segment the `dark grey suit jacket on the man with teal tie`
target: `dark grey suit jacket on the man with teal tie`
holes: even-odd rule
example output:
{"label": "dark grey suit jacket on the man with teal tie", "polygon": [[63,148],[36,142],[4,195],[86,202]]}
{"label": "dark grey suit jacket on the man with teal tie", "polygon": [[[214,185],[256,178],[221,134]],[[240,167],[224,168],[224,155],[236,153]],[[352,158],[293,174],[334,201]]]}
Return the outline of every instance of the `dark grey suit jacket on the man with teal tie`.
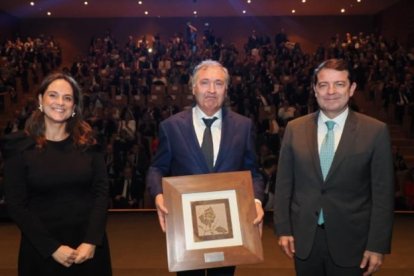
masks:
{"label": "dark grey suit jacket on the man with teal tie", "polygon": [[298,118],[286,128],[276,181],[276,233],[293,235],[296,256],[306,258],[323,208],[334,262],[359,265],[364,250],[390,252],[394,177],[389,133],[384,123],[350,110],[324,181],[318,115]]}

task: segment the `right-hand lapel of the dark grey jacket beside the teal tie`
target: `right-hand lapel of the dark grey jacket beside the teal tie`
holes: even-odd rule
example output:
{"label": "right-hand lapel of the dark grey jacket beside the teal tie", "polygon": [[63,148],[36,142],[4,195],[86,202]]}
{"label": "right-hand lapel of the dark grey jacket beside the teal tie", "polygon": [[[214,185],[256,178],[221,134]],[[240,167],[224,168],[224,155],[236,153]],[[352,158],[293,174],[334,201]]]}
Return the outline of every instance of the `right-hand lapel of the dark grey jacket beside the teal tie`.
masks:
{"label": "right-hand lapel of the dark grey jacket beside the teal tie", "polygon": [[334,159],[332,161],[331,168],[329,169],[326,180],[329,180],[331,175],[337,170],[348,155],[350,149],[355,145],[356,137],[356,128],[357,128],[357,117],[350,110],[348,117],[345,121],[344,130],[342,132],[341,140],[339,141],[338,148],[336,149]]}

